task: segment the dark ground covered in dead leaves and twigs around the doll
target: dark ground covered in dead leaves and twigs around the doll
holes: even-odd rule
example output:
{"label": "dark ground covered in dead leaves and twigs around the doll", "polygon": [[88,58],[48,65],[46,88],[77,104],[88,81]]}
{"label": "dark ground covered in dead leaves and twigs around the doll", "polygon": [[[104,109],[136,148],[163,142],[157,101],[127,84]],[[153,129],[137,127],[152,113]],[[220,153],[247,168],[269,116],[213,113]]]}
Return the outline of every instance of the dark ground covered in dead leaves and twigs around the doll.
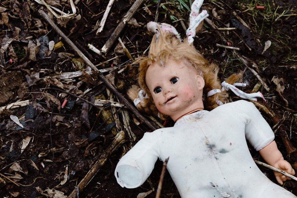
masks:
{"label": "dark ground covered in dead leaves and twigs around the doll", "polygon": [[[98,34],[108,1],[77,1],[76,13],[69,18],[53,16],[38,2],[4,0],[0,3],[0,197],[53,197],[47,189],[56,197],[69,196],[103,151],[112,145],[115,134],[121,130],[127,132],[129,128],[136,140],[127,137],[124,146],[109,153],[98,173],[80,189],[79,196],[137,197],[139,193],[153,190],[147,197],[155,197],[162,162],[156,163],[149,181],[137,189],[121,188],[113,173],[123,151],[150,128],[123,107],[121,101],[118,106],[114,105],[115,94],[106,89],[100,76],[91,72],[73,47],[38,12],[44,10],[98,69],[113,70],[101,71],[126,97],[127,88],[137,82],[137,66],[118,39],[107,53],[100,55],[91,51],[88,44],[101,49],[134,1],[114,2]],[[69,1],[46,2],[67,14],[73,13]],[[147,53],[152,33],[146,30],[146,24],[155,20],[156,12],[157,22],[175,26],[185,38],[189,1],[160,1],[158,11],[157,4],[157,1],[144,1],[119,33],[133,59]],[[217,64],[222,81],[244,71],[242,81],[248,86],[243,90],[263,93],[267,103],[259,101],[258,104],[266,110],[263,106],[258,108],[273,128],[285,159],[297,170],[297,1],[205,0],[202,9],[208,11],[209,21],[205,21],[197,33],[196,49],[209,62]],[[235,29],[214,29],[212,24],[217,28]],[[55,46],[50,48],[52,43]],[[265,43],[269,48],[264,50]],[[88,69],[77,76],[61,77],[66,72]],[[260,80],[263,82],[259,83]],[[65,99],[67,104],[61,108]],[[94,101],[99,103],[99,99],[102,105],[92,106]],[[236,100],[236,97],[230,94],[230,99]],[[8,106],[15,102],[20,103]],[[20,123],[16,124],[11,115],[17,116]],[[129,127],[124,126],[125,123]],[[166,126],[170,125],[172,122]],[[251,153],[263,161],[257,152],[251,150]],[[276,182],[271,170],[260,169]],[[287,181],[283,187],[297,195],[296,182]],[[58,195],[60,192],[64,195]],[[161,197],[179,197],[168,173]]]}

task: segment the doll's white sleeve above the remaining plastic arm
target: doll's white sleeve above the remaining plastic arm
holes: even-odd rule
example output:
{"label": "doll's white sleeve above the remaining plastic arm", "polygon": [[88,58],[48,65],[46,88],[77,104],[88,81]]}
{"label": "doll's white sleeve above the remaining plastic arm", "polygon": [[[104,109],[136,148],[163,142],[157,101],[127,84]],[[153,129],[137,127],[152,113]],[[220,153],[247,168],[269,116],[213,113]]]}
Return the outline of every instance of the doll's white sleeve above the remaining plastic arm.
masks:
{"label": "doll's white sleeve above the remaining plastic arm", "polygon": [[274,140],[274,133],[260,111],[251,102],[240,100],[237,109],[244,115],[246,127],[245,136],[256,151],[263,149]]}

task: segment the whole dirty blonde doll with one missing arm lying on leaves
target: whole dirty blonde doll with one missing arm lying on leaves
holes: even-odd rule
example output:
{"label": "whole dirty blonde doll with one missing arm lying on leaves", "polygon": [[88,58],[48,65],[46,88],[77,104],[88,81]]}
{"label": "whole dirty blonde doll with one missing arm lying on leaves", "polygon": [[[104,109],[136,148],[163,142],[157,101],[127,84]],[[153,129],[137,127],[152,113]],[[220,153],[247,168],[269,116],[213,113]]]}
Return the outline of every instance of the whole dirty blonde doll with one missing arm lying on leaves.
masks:
{"label": "whole dirty blonde doll with one missing arm lying on leaves", "polygon": [[[181,197],[296,197],[270,181],[252,159],[246,140],[269,165],[295,174],[257,108],[246,100],[228,103],[217,69],[167,30],[157,27],[149,55],[138,59],[141,90],[134,87],[128,94],[137,95],[139,110],[175,124],[145,133],[120,159],[115,170],[120,186],[142,185],[157,159],[169,157],[167,169]],[[281,185],[290,179],[274,174]]]}

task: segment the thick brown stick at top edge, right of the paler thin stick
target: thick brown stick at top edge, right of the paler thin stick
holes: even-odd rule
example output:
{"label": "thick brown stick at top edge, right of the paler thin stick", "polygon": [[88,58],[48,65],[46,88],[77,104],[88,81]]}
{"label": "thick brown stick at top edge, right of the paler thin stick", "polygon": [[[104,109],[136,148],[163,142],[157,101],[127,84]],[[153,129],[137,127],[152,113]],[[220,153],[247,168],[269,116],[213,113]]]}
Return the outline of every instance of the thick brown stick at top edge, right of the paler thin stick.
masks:
{"label": "thick brown stick at top edge, right of the paler thin stick", "polygon": [[112,35],[109,37],[108,41],[105,43],[105,45],[102,47],[101,52],[103,53],[107,53],[111,46],[113,45],[113,43],[116,41],[116,39],[119,37],[121,31],[123,30],[123,28],[126,25],[126,22],[129,21],[132,16],[135,14],[135,12],[137,11],[138,7],[143,4],[144,0],[136,0],[134,2],[134,4],[131,6],[131,8],[128,10],[128,12],[126,13],[126,15],[123,17],[123,19],[121,20],[121,22],[119,23],[119,25],[116,27],[116,29],[113,31]]}

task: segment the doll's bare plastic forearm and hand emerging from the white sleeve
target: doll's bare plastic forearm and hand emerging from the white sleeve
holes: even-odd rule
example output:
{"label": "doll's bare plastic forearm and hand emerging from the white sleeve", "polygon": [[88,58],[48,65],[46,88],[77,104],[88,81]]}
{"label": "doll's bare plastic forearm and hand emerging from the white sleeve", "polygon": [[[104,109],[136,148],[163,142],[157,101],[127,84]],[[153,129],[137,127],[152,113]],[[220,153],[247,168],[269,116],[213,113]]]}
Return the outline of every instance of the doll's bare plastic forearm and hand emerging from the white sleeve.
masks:
{"label": "doll's bare plastic forearm and hand emerging from the white sleeve", "polygon": [[[295,175],[295,171],[290,165],[290,163],[284,160],[282,153],[277,149],[277,144],[275,141],[272,141],[266,147],[261,149],[259,153],[269,165],[275,168],[278,168],[280,170],[283,170],[291,175]],[[289,180],[291,179],[276,171],[274,171],[274,175],[275,175],[275,178],[277,179],[277,182],[280,185],[283,184],[283,181],[286,181],[287,179]]]}

